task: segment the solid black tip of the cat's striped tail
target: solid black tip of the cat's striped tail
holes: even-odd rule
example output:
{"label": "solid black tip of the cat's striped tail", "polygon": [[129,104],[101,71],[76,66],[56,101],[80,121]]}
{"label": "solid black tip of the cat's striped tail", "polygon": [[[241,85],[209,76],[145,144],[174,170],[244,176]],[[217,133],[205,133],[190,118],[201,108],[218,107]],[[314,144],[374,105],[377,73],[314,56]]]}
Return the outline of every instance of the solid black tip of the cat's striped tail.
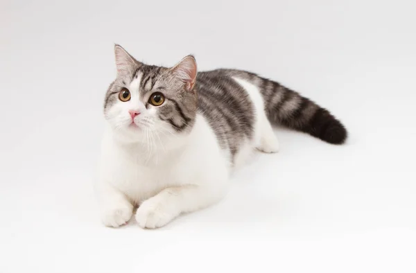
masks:
{"label": "solid black tip of the cat's striped tail", "polygon": [[310,121],[309,133],[332,144],[343,144],[348,133],[344,125],[327,109],[320,108]]}

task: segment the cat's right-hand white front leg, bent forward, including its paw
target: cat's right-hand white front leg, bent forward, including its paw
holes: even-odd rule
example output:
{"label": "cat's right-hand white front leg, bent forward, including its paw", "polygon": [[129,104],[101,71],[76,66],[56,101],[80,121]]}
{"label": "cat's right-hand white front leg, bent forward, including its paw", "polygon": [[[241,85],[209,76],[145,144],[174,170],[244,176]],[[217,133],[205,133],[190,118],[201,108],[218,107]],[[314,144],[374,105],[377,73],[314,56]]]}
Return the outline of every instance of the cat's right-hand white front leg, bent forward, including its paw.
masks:
{"label": "cat's right-hand white front leg, bent forward, including its paw", "polygon": [[218,202],[225,191],[221,187],[199,185],[165,188],[139,206],[136,221],[142,228],[162,227],[181,213],[197,211]]}

